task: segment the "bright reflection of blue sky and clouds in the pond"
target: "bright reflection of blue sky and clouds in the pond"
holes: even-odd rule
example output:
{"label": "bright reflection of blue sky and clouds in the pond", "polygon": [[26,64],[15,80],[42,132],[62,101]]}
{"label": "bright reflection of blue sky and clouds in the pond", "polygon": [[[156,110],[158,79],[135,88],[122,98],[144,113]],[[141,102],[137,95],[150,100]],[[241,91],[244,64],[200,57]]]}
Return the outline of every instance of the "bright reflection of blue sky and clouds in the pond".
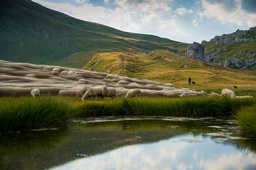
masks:
{"label": "bright reflection of blue sky and clouds in the pond", "polygon": [[[82,153],[81,153],[82,154]],[[129,145],[85,157],[53,169],[256,169],[256,156],[235,145],[201,135],[179,135],[156,143]]]}

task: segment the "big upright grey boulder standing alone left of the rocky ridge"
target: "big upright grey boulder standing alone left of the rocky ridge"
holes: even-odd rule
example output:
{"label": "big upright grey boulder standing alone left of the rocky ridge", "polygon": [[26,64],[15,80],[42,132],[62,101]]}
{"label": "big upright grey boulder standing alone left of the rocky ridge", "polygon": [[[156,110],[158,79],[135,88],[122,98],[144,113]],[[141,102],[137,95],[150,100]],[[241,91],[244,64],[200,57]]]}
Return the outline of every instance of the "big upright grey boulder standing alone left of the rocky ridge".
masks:
{"label": "big upright grey boulder standing alone left of the rocky ridge", "polygon": [[202,61],[204,57],[204,46],[201,43],[193,42],[193,44],[188,47],[187,57]]}

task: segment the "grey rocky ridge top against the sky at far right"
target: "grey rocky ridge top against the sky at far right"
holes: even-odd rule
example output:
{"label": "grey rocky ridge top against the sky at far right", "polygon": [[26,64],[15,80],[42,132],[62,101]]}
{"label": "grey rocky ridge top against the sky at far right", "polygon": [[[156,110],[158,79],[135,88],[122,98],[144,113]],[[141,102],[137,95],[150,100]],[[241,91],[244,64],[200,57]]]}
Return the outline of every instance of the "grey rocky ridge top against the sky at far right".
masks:
{"label": "grey rocky ridge top against the sky at far right", "polygon": [[249,42],[256,39],[255,35],[256,27],[252,27],[249,30],[236,30],[234,33],[224,34],[222,36],[215,36],[210,42],[218,44],[222,43],[238,43],[238,42]]}

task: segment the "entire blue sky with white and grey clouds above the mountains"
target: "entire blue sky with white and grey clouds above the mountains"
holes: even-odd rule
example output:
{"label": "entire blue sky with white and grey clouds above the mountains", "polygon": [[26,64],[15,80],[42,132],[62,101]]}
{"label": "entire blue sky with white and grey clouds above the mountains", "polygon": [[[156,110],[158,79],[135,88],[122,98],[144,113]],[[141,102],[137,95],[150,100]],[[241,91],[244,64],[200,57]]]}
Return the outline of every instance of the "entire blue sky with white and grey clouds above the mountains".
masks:
{"label": "entire blue sky with white and grey clouds above the mountains", "polygon": [[32,0],[122,31],[201,42],[256,26],[256,0]]}

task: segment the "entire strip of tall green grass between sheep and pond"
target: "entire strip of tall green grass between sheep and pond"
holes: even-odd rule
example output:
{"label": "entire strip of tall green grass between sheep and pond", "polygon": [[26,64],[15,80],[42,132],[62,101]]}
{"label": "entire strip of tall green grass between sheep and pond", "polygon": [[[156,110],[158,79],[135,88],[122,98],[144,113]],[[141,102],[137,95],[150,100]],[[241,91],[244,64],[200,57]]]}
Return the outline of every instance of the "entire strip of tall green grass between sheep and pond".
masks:
{"label": "entire strip of tall green grass between sheep and pond", "polygon": [[219,98],[118,98],[85,102],[57,96],[0,98],[0,132],[55,126],[72,116],[231,116],[255,103],[255,99]]}

